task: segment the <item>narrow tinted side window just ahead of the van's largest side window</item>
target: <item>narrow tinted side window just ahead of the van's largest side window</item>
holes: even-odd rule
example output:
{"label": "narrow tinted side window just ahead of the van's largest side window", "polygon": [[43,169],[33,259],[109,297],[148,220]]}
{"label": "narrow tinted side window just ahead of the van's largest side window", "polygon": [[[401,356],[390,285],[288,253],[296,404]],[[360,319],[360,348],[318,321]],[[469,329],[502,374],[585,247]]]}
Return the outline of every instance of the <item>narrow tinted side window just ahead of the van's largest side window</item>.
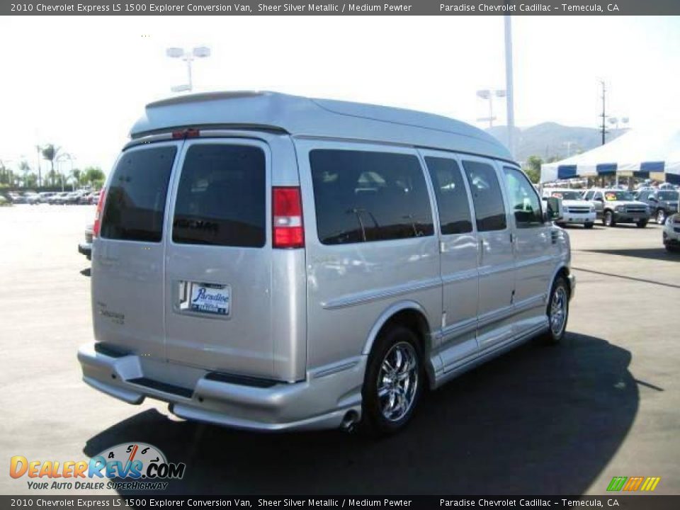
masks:
{"label": "narrow tinted side window just ahead of the van's largest side window", "polygon": [[439,157],[426,157],[425,163],[437,198],[441,233],[472,232],[470,203],[458,163],[455,159]]}

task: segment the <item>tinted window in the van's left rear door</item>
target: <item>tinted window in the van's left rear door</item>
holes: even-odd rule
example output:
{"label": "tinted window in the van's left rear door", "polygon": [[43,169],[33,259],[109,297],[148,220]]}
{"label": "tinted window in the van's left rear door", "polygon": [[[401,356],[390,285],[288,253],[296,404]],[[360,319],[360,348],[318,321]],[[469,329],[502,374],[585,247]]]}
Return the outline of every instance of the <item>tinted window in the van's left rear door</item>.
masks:
{"label": "tinted window in the van's left rear door", "polygon": [[106,193],[101,237],[160,242],[176,147],[125,152]]}

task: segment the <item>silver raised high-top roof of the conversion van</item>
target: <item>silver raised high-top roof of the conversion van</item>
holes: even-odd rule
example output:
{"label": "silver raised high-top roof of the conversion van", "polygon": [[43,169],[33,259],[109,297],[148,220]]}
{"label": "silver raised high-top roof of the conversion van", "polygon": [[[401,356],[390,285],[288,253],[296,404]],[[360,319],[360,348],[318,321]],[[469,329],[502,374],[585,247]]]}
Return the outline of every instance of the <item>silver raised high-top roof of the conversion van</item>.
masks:
{"label": "silver raised high-top roof of the conversion van", "polygon": [[480,154],[511,160],[502,145],[471,125],[418,111],[274,92],[211,92],[156,101],[132,138],[174,128],[260,128],[324,137]]}

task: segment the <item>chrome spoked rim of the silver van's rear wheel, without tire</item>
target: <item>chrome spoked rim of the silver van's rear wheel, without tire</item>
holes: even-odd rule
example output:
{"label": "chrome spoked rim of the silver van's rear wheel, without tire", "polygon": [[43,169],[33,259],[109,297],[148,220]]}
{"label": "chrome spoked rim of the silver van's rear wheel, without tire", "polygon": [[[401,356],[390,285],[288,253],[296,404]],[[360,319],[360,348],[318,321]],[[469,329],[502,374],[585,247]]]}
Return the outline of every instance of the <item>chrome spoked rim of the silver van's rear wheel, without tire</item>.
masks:
{"label": "chrome spoked rim of the silver van's rear wheel, without tire", "polygon": [[378,402],[385,419],[399,421],[409,412],[418,390],[418,372],[418,355],[409,342],[393,345],[382,358]]}

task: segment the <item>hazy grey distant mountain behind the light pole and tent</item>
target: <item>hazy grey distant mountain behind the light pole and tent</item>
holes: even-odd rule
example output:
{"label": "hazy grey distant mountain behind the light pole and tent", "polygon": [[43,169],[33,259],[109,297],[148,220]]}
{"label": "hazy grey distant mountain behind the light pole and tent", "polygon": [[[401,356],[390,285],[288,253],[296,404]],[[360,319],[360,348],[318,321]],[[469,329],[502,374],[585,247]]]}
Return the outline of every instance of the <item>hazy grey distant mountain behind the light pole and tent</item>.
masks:
{"label": "hazy grey distant mountain behind the light pole and tent", "polygon": [[[607,141],[623,135],[625,129],[611,129],[607,132]],[[487,132],[507,145],[507,126],[494,126]],[[567,142],[571,142],[567,144]],[[552,157],[564,159],[587,152],[601,145],[600,130],[596,128],[577,128],[557,123],[542,123],[531,128],[515,128],[516,159],[526,161],[529,156],[539,156],[544,160]],[[569,149],[567,151],[567,146]]]}

